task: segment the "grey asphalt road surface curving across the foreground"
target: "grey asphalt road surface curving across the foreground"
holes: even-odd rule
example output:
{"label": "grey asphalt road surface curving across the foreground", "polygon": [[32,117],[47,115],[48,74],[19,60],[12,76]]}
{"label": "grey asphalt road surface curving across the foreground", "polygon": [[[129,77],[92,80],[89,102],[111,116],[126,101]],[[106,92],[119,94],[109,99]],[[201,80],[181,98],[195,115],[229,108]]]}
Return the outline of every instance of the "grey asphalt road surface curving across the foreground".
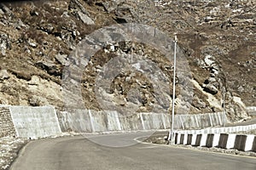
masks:
{"label": "grey asphalt road surface curving across the foreground", "polygon": [[[255,170],[256,158],[142,144],[145,133],[40,139],[20,151],[12,170]],[[149,133],[148,133],[149,135]],[[119,142],[117,142],[119,141]],[[109,145],[116,147],[109,147]]]}

